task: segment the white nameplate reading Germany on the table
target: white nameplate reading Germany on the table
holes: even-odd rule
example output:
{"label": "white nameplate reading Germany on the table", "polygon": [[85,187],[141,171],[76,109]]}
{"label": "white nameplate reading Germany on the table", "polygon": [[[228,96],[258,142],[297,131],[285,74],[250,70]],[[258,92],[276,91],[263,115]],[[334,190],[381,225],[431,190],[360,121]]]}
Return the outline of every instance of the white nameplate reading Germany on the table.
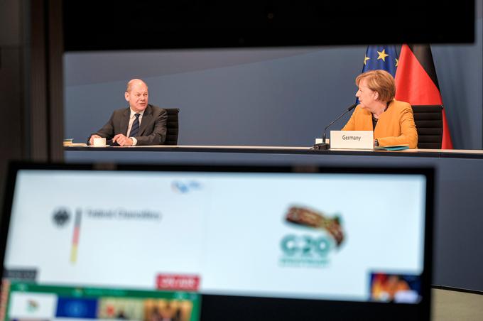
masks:
{"label": "white nameplate reading Germany on the table", "polygon": [[330,131],[330,149],[374,150],[374,131]]}

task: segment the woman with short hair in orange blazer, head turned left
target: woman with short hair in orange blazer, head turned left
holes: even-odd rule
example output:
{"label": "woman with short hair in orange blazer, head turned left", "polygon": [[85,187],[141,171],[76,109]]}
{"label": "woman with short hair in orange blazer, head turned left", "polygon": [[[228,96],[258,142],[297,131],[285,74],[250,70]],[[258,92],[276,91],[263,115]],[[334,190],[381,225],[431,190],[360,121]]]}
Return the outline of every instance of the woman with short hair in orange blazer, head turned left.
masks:
{"label": "woman with short hair in orange blazer, head turned left", "polygon": [[418,132],[413,109],[394,99],[394,78],[384,70],[364,72],[356,78],[359,99],[354,113],[342,131],[374,131],[376,146],[408,144],[417,148]]}

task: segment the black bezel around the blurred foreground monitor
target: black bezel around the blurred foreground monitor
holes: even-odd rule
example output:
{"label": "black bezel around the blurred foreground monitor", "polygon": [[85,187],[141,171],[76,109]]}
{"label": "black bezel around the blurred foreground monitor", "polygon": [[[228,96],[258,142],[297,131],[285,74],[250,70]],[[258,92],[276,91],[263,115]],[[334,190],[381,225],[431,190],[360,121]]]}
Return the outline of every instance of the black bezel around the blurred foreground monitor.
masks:
{"label": "black bezel around the blurred foreground monitor", "polygon": [[[424,175],[425,187],[425,236],[423,273],[421,274],[422,300],[417,304],[355,302],[340,300],[305,300],[291,298],[260,298],[234,295],[201,295],[200,320],[429,320],[430,285],[433,261],[433,168],[420,167],[334,167],[334,166],[259,166],[259,165],[124,165],[124,164],[9,164],[6,179],[4,210],[0,227],[0,259],[4,262],[9,232],[11,208],[19,170],[101,170],[129,172],[201,172],[201,173],[341,173],[341,174],[391,174]],[[374,191],[376,193],[376,191]],[[374,195],[376,198],[376,195]],[[2,278],[4,268],[2,268]]]}

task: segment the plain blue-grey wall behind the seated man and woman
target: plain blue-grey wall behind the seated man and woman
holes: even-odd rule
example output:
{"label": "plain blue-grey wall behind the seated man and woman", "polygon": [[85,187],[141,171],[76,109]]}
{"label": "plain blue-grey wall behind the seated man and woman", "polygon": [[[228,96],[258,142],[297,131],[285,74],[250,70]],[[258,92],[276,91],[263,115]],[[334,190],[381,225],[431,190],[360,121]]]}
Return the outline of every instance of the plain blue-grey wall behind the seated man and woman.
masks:
{"label": "plain blue-grey wall behind the seated man and woman", "polygon": [[[482,6],[475,28],[473,45],[432,47],[458,149],[483,146]],[[181,109],[180,145],[310,146],[354,102],[366,48],[66,53],[65,138],[85,141],[114,109],[127,107],[125,84],[140,77],[152,104]]]}

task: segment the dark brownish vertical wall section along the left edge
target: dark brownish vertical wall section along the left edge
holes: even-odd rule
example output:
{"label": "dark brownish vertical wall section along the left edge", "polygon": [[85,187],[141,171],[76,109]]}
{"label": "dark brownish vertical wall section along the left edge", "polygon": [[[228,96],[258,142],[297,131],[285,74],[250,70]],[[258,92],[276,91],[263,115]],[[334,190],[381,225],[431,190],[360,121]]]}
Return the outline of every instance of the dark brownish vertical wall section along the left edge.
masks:
{"label": "dark brownish vertical wall section along the left edge", "polygon": [[62,0],[0,1],[0,208],[10,160],[63,159]]}

